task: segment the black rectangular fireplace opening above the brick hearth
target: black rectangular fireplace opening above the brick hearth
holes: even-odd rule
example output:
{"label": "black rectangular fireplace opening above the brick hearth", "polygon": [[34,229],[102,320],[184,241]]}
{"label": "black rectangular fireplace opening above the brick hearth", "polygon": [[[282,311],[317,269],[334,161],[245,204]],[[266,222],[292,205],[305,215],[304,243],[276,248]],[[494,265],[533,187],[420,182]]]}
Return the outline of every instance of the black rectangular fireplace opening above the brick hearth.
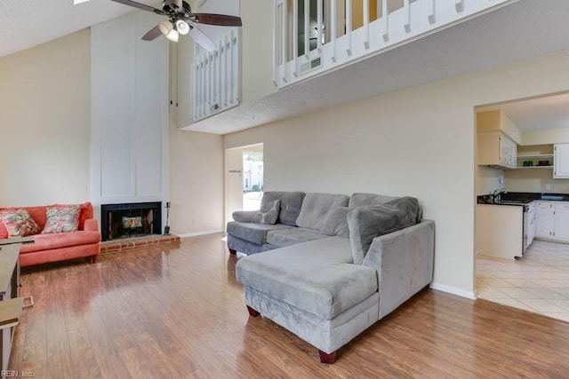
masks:
{"label": "black rectangular fireplace opening above the brick hearth", "polygon": [[160,201],[100,206],[102,241],[160,234],[162,212]]}

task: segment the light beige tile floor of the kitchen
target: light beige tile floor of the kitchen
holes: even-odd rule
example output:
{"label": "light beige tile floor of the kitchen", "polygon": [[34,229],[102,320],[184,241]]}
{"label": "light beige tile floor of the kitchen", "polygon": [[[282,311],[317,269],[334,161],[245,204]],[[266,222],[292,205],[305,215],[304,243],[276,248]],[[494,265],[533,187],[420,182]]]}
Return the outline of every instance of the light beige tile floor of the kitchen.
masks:
{"label": "light beige tile floor of the kitchen", "polygon": [[533,241],[520,260],[478,256],[477,296],[569,322],[569,244]]}

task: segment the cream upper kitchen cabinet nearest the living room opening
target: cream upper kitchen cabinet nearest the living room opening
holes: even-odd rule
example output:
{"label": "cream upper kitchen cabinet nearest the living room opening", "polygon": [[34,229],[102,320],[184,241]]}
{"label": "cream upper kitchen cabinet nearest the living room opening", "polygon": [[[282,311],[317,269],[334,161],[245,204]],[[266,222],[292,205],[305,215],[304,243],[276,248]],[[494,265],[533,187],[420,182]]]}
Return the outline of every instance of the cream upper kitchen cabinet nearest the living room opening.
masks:
{"label": "cream upper kitchen cabinet nearest the living room opening", "polygon": [[478,165],[515,169],[517,144],[501,131],[478,133]]}

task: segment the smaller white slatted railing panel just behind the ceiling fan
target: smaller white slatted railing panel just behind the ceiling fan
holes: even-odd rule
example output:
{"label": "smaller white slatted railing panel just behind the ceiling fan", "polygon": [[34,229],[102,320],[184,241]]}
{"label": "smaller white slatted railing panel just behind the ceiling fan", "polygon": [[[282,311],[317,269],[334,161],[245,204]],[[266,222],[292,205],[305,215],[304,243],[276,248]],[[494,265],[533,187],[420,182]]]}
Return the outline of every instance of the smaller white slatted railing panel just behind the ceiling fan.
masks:
{"label": "smaller white slatted railing panel just behind the ceiling fan", "polygon": [[236,28],[222,36],[216,51],[196,55],[192,65],[191,114],[197,122],[239,105],[241,38]]}

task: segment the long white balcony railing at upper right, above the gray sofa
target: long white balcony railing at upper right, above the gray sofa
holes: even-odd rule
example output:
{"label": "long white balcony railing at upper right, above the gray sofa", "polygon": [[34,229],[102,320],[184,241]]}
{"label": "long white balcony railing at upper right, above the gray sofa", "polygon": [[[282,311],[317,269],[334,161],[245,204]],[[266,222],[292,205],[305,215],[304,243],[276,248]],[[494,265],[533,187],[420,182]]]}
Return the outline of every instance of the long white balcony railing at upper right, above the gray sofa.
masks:
{"label": "long white balcony railing at upper right, above the gray sofa", "polygon": [[282,88],[517,0],[274,1],[274,81]]}

